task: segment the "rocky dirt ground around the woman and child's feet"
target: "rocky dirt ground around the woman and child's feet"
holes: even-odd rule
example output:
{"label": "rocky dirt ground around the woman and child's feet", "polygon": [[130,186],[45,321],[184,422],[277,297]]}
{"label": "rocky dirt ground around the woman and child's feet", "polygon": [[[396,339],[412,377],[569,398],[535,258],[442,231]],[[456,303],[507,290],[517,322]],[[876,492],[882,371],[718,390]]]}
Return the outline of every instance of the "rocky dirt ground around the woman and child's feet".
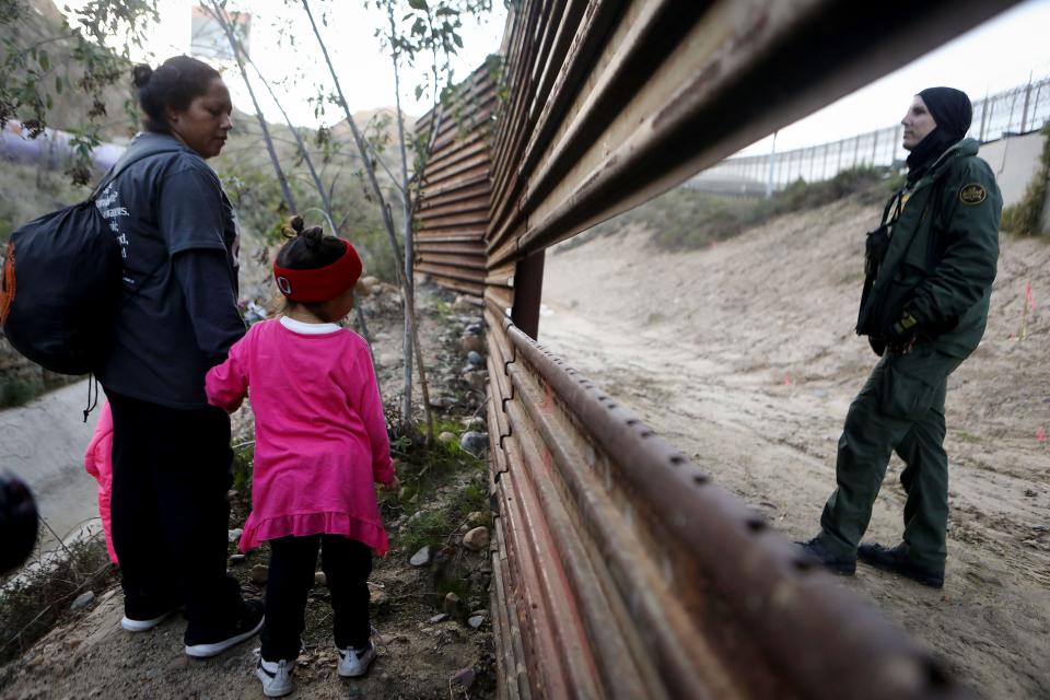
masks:
{"label": "rocky dirt ground around the woman and child's feet", "polygon": [[[456,340],[466,325],[480,320],[480,313],[474,308],[460,311],[457,315],[450,308],[448,301],[447,294],[431,288],[420,291],[418,303],[423,317],[421,337],[431,364],[431,392],[457,401],[441,412],[445,430],[476,412],[474,404],[479,400],[476,392],[464,390],[462,368],[465,355]],[[374,339],[381,388],[389,407],[397,405],[394,395],[399,389],[401,375],[399,301],[396,291],[387,285],[364,304]],[[471,394],[474,404],[464,398]],[[234,442],[250,439],[250,421],[245,418],[243,415],[234,417]],[[446,464],[445,481],[430,488],[436,481],[431,479],[427,491],[420,479],[418,493],[424,497],[419,501],[421,510],[436,512],[447,509],[457,493],[470,485],[483,493],[488,483],[485,465],[476,460],[462,462],[463,468]],[[401,470],[402,483],[411,483],[411,476],[408,475],[408,479],[406,476]],[[243,525],[245,508],[234,497],[231,528]],[[488,553],[470,552],[459,546],[465,527],[458,521],[447,538],[442,533],[444,553],[454,558],[451,564],[447,560],[441,564],[442,571],[447,574],[455,568],[456,575],[466,581],[464,590],[469,595],[465,595],[459,609],[439,619],[445,607],[442,597],[435,595],[438,564],[410,565],[415,547],[409,551],[398,536],[398,525],[407,520],[410,510],[415,509],[402,508],[398,499],[389,499],[383,506],[392,547],[385,558],[374,561],[370,578],[372,625],[376,632],[373,641],[380,653],[378,660],[364,678],[342,679],[336,674],[338,657],[331,641],[328,594],[323,585],[317,585],[311,592],[307,605],[307,630],[303,635],[305,650],[298,660],[293,675],[296,690],[291,698],[421,700],[494,696],[495,663],[490,618],[486,614],[476,629],[466,619],[467,615],[488,608],[486,584],[491,574]],[[236,552],[232,542],[230,552]],[[265,586],[252,583],[250,574],[254,567],[267,561],[266,547],[253,550],[244,560],[231,560],[230,572],[242,582],[247,597],[261,597]],[[438,561],[442,560],[435,559]],[[149,632],[130,634],[119,627],[122,611],[122,597],[116,587],[100,595],[84,611],[67,616],[62,625],[30,649],[20,661],[0,667],[0,697],[12,700],[233,700],[264,697],[254,674],[253,650],[258,646],[257,639],[211,660],[191,660],[183,651],[185,621],[182,616],[172,616]],[[455,680],[457,676],[465,678],[466,682]]]}

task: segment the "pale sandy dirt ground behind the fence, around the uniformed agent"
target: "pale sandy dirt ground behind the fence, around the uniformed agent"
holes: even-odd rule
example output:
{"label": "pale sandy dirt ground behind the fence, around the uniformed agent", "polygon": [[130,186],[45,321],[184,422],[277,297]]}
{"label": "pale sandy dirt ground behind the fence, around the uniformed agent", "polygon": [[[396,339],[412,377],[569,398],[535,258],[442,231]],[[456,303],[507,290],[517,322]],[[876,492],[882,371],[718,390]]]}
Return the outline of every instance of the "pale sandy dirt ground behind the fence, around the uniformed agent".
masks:
{"label": "pale sandy dirt ground behind the fence, around the uniformed agent", "polygon": [[[835,485],[847,408],[876,362],[853,334],[864,232],[838,202],[704,250],[628,231],[549,252],[539,338],[786,536]],[[981,347],[950,377],[943,591],[861,565],[845,585],[987,698],[1050,697],[1050,244],[1001,237]],[[1026,284],[1035,308],[1024,320]],[[899,541],[902,465],[868,538]]]}

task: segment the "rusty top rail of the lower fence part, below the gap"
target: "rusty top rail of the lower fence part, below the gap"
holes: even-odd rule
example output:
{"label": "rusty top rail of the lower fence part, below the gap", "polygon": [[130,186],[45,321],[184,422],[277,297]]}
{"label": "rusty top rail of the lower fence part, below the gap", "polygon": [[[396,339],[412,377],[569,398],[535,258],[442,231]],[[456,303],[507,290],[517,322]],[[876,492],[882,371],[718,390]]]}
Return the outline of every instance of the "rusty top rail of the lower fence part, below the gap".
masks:
{"label": "rusty top rail of the lower fence part, below the gap", "polygon": [[[970,698],[928,652],[769,528],[736,497],[629,411],[520,329],[506,332],[518,353],[576,418],[595,448],[616,465],[633,508],[648,513],[688,556],[668,562],[699,572],[750,642],[812,698]],[[710,605],[703,597],[687,606]],[[849,623],[844,623],[849,620]],[[800,640],[805,640],[801,645]]]}

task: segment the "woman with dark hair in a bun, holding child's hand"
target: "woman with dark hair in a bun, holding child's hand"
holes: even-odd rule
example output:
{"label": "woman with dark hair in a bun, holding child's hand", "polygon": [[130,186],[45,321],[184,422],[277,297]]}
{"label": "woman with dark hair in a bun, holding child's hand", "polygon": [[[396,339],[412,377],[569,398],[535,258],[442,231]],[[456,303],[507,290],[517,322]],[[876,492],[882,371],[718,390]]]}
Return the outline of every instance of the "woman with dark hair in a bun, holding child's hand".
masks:
{"label": "woman with dark hair in a bun, holding child's hand", "polygon": [[186,606],[186,653],[213,656],[262,625],[226,575],[230,419],[205,373],[244,335],[236,226],[218,155],[232,122],[218,71],[170,58],[135,69],[145,131],[96,198],[124,255],[125,293],[98,378],[113,409],[113,542],[122,627],[142,632]]}

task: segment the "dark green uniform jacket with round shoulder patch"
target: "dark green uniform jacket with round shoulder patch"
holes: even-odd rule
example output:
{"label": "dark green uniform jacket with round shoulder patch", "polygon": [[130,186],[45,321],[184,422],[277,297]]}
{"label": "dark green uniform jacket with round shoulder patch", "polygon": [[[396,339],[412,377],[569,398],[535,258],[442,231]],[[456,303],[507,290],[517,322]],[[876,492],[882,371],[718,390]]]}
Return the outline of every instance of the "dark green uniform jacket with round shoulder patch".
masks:
{"label": "dark green uniform jacket with round shoulder patch", "polygon": [[[959,141],[903,197],[878,277],[858,316],[859,334],[882,336],[907,306],[920,336],[966,358],[988,323],[999,261],[1003,197],[973,139]],[[889,211],[890,206],[887,207]]]}

